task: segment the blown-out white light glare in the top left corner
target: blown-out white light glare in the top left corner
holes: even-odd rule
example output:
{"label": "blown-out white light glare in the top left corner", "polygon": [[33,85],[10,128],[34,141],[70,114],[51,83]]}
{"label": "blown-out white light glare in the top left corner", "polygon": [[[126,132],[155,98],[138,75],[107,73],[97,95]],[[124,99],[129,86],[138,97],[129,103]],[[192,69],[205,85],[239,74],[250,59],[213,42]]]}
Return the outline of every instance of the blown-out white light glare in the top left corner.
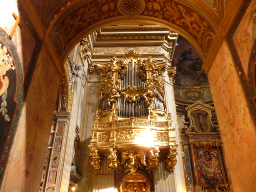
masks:
{"label": "blown-out white light glare in the top left corner", "polygon": [[18,9],[15,0],[0,0],[1,11],[0,11],[0,26],[4,27],[15,21],[12,14],[16,13],[18,16]]}

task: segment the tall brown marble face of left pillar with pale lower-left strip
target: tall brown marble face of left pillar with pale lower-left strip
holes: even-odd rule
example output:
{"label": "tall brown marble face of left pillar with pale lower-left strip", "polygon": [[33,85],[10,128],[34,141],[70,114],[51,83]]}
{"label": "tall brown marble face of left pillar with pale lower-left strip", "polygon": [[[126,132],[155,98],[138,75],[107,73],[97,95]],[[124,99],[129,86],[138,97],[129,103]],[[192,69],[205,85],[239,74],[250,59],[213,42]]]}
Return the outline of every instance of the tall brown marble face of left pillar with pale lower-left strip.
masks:
{"label": "tall brown marble face of left pillar with pale lower-left strip", "polygon": [[49,53],[42,47],[23,104],[0,192],[39,191],[59,78]]}

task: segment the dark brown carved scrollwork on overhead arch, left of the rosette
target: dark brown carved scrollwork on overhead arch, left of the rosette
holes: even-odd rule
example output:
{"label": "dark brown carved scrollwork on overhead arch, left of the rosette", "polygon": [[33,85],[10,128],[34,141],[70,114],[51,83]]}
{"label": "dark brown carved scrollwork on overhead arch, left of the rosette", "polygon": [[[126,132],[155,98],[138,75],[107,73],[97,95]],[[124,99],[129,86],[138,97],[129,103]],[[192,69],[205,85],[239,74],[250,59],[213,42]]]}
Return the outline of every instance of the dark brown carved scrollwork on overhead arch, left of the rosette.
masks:
{"label": "dark brown carved scrollwork on overhead arch, left of the rosette", "polygon": [[64,39],[64,47],[67,47],[77,33],[90,24],[119,16],[116,5],[117,0],[93,0],[66,17],[57,28]]}

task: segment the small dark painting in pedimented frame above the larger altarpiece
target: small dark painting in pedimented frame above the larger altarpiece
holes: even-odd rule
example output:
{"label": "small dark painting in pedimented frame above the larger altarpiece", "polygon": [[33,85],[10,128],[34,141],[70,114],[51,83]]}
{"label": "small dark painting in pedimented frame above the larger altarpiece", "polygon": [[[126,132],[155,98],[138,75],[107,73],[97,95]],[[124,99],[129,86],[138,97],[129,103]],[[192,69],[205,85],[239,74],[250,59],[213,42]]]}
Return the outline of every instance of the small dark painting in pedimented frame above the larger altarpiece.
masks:
{"label": "small dark painting in pedimented frame above the larger altarpiece", "polygon": [[190,113],[195,130],[197,132],[209,132],[211,130],[209,123],[209,114],[205,110],[193,110]]}

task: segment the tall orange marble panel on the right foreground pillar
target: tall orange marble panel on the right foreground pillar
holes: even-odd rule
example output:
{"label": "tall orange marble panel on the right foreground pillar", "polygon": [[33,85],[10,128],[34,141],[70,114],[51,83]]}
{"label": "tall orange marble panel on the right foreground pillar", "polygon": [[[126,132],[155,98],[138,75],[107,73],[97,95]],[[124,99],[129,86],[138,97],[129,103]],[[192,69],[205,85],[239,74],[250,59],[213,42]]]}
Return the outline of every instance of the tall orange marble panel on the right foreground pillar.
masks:
{"label": "tall orange marble panel on the right foreground pillar", "polygon": [[256,189],[256,125],[224,41],[208,72],[234,192]]}

